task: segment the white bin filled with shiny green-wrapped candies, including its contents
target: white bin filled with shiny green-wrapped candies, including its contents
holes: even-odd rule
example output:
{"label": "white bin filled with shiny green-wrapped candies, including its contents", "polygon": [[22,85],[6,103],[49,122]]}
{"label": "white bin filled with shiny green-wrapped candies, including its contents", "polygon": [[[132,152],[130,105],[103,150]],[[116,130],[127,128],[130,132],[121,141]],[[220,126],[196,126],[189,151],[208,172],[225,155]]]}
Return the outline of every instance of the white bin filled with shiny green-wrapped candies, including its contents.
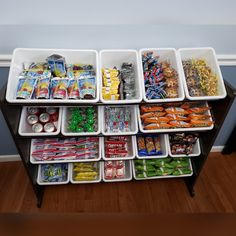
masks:
{"label": "white bin filled with shiny green-wrapped candies, including its contents", "polygon": [[97,135],[100,116],[98,106],[64,107],[61,132],[65,136]]}

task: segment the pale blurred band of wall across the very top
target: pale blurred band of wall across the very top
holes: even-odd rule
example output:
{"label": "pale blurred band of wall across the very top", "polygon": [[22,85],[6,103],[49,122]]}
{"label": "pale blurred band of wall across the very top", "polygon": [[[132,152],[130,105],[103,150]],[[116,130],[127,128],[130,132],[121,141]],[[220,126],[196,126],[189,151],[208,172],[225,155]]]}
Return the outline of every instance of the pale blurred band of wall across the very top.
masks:
{"label": "pale blurred band of wall across the very top", "polygon": [[235,0],[0,0],[0,24],[236,24]]}

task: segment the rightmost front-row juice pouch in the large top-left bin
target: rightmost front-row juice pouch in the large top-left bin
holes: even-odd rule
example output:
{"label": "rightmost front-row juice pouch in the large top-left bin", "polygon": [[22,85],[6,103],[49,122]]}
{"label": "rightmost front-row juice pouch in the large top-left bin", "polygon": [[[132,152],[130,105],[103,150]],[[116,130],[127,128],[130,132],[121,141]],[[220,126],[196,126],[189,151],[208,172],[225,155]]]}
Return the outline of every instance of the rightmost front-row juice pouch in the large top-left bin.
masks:
{"label": "rightmost front-row juice pouch in the large top-left bin", "polygon": [[79,78],[78,79],[79,94],[82,99],[95,98],[96,78]]}

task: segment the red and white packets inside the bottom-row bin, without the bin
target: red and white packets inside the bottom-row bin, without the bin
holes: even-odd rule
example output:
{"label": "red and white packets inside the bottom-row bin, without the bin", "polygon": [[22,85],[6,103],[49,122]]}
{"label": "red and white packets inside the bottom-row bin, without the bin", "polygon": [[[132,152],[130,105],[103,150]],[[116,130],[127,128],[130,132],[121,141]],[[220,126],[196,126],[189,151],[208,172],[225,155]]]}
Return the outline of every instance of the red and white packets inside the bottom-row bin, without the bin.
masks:
{"label": "red and white packets inside the bottom-row bin, without the bin", "polygon": [[105,161],[104,178],[107,180],[125,178],[125,161]]}

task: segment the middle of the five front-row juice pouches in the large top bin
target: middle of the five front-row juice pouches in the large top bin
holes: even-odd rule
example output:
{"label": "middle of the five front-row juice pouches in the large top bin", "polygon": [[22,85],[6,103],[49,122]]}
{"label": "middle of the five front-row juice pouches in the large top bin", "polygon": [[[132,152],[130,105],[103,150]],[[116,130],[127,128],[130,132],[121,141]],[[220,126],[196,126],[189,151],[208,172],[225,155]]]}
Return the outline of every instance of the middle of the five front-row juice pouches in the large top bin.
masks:
{"label": "middle of the five front-row juice pouches in the large top bin", "polygon": [[66,99],[67,97],[67,78],[53,78],[51,80],[51,90],[53,99]]}

